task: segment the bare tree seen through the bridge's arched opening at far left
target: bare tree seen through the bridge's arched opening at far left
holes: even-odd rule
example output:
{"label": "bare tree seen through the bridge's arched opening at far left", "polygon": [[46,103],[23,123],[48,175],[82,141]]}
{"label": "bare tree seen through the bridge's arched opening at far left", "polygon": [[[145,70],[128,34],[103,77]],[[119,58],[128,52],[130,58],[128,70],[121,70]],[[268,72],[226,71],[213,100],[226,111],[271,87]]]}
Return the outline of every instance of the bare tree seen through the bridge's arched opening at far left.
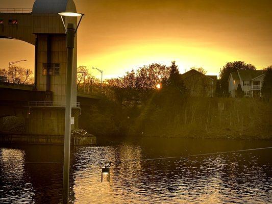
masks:
{"label": "bare tree seen through the bridge's arched opening at far left", "polygon": [[31,69],[26,69],[19,66],[11,66],[9,68],[9,78],[14,83],[25,84],[25,83],[33,83],[33,71]]}

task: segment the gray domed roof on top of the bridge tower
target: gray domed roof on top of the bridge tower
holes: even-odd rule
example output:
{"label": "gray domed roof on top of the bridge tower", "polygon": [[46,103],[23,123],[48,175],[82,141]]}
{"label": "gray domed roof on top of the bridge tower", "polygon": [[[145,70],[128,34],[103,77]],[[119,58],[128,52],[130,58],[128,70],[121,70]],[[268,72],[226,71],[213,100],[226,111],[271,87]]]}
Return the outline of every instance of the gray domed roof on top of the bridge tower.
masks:
{"label": "gray domed roof on top of the bridge tower", "polygon": [[75,3],[72,0],[36,0],[33,4],[33,14],[60,12],[77,12]]}

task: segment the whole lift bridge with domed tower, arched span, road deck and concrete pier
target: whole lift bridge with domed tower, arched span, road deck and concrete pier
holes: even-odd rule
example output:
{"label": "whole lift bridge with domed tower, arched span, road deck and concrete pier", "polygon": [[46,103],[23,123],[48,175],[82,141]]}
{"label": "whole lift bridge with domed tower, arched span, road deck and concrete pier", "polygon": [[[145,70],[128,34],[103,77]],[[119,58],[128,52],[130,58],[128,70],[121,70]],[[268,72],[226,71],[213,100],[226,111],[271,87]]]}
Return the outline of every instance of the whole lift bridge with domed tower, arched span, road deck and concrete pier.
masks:
{"label": "whole lift bridge with domed tower, arched span, road deck and concrete pier", "polygon": [[[0,9],[0,38],[18,39],[35,46],[34,83],[0,80],[0,131],[3,117],[24,120],[31,135],[64,135],[66,93],[66,33],[60,12],[77,12],[72,0],[36,0],[32,9]],[[64,17],[64,24],[77,23]],[[80,101],[91,103],[98,96],[77,94],[77,35],[72,67],[71,130],[78,128]],[[79,100],[79,101],[78,101]]]}

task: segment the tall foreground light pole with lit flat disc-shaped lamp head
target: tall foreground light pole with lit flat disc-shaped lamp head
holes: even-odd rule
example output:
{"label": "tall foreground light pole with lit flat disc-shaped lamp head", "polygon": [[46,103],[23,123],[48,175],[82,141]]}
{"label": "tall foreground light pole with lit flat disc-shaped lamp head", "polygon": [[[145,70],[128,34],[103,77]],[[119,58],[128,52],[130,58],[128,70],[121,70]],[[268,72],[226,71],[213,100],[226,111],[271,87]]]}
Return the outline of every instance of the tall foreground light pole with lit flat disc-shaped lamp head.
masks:
{"label": "tall foreground light pole with lit flat disc-shaped lamp head", "polygon": [[[70,138],[71,138],[71,107],[72,107],[72,69],[73,69],[73,48],[75,47],[75,34],[79,28],[80,21],[84,14],[62,12],[61,16],[66,31],[66,47],[67,47],[67,70],[66,70],[66,106],[65,106],[65,132],[64,132],[64,158],[63,158],[63,203],[68,203],[69,195],[69,165],[70,165]],[[67,24],[67,29],[62,16],[81,16],[80,21],[75,30],[73,23]]]}

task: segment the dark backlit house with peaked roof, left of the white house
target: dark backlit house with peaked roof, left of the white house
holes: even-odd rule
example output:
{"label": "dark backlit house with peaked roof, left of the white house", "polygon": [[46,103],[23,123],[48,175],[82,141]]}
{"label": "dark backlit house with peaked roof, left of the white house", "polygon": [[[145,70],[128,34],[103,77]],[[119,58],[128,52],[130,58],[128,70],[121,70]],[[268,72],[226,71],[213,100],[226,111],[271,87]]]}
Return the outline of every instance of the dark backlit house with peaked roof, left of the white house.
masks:
{"label": "dark backlit house with peaked roof, left of the white house", "polygon": [[213,97],[217,75],[205,75],[195,69],[191,69],[181,74],[184,86],[192,97]]}

